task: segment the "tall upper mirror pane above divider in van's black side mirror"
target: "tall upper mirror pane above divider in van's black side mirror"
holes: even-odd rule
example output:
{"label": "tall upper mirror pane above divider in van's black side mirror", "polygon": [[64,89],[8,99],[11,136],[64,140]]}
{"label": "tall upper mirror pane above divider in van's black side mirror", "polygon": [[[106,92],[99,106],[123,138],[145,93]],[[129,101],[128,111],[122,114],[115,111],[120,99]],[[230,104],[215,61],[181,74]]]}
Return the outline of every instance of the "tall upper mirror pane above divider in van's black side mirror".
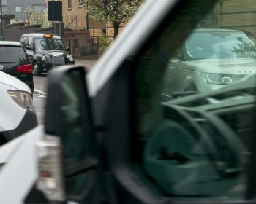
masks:
{"label": "tall upper mirror pane above divider in van's black side mirror", "polygon": [[81,118],[81,105],[75,85],[76,77],[65,75],[61,81],[61,122],[62,144],[64,149],[64,167],[71,168],[83,159],[83,124]]}

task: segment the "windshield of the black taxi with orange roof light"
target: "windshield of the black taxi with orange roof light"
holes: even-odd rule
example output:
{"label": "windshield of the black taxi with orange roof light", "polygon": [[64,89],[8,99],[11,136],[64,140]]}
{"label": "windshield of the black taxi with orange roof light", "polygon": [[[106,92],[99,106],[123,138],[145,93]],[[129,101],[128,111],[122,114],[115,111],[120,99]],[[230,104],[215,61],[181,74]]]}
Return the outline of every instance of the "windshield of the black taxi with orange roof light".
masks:
{"label": "windshield of the black taxi with orange roof light", "polygon": [[64,42],[54,38],[35,39],[35,48],[36,50],[65,50]]}

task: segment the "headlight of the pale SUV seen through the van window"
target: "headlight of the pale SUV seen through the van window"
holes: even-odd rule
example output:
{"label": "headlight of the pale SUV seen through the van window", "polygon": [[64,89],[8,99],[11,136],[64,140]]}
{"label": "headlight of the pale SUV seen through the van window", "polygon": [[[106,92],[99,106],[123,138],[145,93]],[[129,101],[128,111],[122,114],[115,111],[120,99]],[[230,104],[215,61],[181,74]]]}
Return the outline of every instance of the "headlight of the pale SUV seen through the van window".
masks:
{"label": "headlight of the pale SUV seen through the van window", "polygon": [[206,79],[206,83],[214,85],[227,85],[234,81],[232,74],[203,73],[202,76]]}

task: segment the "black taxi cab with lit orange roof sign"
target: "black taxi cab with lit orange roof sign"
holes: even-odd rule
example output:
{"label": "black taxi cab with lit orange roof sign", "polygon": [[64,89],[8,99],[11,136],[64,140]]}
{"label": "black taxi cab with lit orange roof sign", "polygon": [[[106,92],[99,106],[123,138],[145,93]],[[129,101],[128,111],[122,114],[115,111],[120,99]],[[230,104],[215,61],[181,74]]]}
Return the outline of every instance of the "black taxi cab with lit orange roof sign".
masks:
{"label": "black taxi cab with lit orange roof sign", "polygon": [[35,76],[47,73],[51,68],[64,64],[74,64],[69,55],[69,47],[64,46],[60,36],[53,34],[23,34],[20,43],[31,57]]}

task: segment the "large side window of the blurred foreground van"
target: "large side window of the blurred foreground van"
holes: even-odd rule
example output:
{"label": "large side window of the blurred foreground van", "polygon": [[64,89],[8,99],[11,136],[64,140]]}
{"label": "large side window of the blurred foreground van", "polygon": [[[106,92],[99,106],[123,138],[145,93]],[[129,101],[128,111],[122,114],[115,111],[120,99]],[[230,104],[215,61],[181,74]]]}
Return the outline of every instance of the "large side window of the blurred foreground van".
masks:
{"label": "large side window of the blurred foreground van", "polygon": [[[208,8],[208,1],[200,4]],[[254,135],[256,32],[238,29],[251,22],[247,15],[230,23],[233,9],[251,7],[217,1],[200,18],[195,7],[189,4],[140,57],[132,157],[140,178],[163,197],[243,200]],[[173,60],[174,46],[184,61]]]}

